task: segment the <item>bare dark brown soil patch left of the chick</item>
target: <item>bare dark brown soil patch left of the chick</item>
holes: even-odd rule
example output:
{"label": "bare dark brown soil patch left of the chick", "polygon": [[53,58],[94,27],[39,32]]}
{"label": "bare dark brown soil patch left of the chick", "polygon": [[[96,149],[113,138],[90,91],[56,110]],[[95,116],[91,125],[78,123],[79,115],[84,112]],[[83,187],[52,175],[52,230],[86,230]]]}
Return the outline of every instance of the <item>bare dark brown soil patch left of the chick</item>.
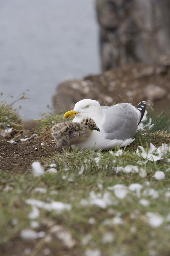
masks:
{"label": "bare dark brown soil patch left of the chick", "polygon": [[[14,143],[10,143],[0,134],[0,169],[4,172],[25,173],[31,169],[33,161],[41,162],[43,157],[49,157],[58,152],[52,137],[48,136],[48,139],[42,140],[34,129],[18,133],[10,138],[15,141]],[[24,138],[30,139],[20,140]]]}

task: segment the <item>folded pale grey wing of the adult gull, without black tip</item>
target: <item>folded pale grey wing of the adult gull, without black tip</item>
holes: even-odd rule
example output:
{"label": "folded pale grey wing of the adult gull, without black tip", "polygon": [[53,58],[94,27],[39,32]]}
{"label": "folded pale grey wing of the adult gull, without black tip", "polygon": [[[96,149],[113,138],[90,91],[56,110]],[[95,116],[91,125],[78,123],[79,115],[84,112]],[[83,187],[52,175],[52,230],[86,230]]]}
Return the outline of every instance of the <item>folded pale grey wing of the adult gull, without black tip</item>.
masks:
{"label": "folded pale grey wing of the adult gull, without black tip", "polygon": [[105,115],[103,129],[106,139],[126,140],[135,136],[138,125],[135,107],[122,103],[102,110]]}

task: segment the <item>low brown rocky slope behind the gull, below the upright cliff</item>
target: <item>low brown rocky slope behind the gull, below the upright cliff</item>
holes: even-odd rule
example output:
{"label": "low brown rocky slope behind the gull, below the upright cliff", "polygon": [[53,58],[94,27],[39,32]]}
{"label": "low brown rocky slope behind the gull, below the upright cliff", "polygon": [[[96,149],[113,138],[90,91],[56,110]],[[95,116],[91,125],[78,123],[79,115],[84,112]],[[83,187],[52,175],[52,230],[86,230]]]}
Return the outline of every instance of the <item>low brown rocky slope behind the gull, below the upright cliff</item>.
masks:
{"label": "low brown rocky slope behind the gull, below the upright cliff", "polygon": [[170,106],[170,56],[162,56],[160,63],[145,65],[131,63],[83,80],[61,83],[53,96],[54,109],[66,111],[82,99],[98,100],[101,105],[130,102],[134,106],[146,100],[158,111]]}

